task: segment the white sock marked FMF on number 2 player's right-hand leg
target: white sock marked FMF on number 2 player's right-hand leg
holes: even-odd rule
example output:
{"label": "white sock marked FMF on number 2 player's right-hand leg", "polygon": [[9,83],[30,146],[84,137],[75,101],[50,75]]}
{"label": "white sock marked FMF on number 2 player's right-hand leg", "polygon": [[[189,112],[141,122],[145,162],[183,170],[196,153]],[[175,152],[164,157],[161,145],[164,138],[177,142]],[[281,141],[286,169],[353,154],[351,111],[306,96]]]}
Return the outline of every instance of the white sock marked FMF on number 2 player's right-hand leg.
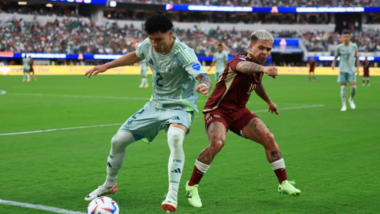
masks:
{"label": "white sock marked FMF on number 2 player's right-hand leg", "polygon": [[177,127],[170,127],[167,130],[167,143],[169,144],[170,156],[167,164],[169,174],[169,192],[177,197],[179,181],[181,179],[184,152],[183,152],[184,131]]}

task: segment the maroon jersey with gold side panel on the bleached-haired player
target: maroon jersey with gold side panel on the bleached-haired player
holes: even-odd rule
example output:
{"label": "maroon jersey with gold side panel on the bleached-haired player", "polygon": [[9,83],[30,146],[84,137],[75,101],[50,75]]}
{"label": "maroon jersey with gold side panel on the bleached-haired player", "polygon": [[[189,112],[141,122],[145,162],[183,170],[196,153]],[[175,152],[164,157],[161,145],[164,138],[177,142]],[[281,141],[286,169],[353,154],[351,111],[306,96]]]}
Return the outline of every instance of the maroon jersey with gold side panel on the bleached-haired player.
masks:
{"label": "maroon jersey with gold side panel on the bleached-haired player", "polygon": [[235,68],[240,61],[252,61],[252,56],[250,53],[243,52],[235,55],[225,64],[224,71],[208,98],[203,113],[216,108],[224,112],[236,112],[238,109],[245,108],[251,92],[256,84],[261,82],[263,72],[258,74],[239,72]]}

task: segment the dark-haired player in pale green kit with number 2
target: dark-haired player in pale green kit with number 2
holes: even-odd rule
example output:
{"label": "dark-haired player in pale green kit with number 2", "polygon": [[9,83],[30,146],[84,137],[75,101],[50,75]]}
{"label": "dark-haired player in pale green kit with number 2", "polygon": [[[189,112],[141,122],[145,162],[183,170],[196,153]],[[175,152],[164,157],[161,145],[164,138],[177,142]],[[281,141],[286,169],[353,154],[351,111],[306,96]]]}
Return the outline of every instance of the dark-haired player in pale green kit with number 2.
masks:
{"label": "dark-haired player in pale green kit with number 2", "polygon": [[195,104],[198,96],[194,90],[208,96],[211,80],[200,65],[194,50],[172,34],[172,26],[172,22],[163,14],[149,16],[144,23],[148,38],[136,44],[136,51],[95,66],[85,73],[89,74],[89,78],[91,74],[96,75],[109,68],[146,59],[152,70],[153,88],[150,101],[129,117],[112,137],[106,180],[89,193],[85,200],[115,193],[118,189],[116,177],[124,160],[125,147],[143,137],[150,142],[159,130],[164,129],[170,148],[169,190],[161,206],[165,211],[176,211],[178,185],[184,165],[182,141],[189,132],[194,111],[198,111]]}

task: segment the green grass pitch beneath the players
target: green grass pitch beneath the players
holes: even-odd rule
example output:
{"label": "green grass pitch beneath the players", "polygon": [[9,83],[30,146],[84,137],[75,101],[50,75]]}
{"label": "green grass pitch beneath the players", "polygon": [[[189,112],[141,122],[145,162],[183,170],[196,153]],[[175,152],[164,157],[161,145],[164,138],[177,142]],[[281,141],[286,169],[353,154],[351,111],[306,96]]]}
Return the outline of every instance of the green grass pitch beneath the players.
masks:
{"label": "green grass pitch beneath the players", "polygon": [[[6,91],[0,95],[0,133],[122,123],[143,106],[141,97],[151,95],[151,88],[138,88],[138,75],[21,78],[0,76],[0,90]],[[347,103],[345,112],[336,76],[317,76],[316,82],[265,76],[263,82],[279,115],[263,111],[266,105],[254,93],[247,107],[273,132],[288,178],[302,194],[279,195],[263,147],[229,131],[199,184],[203,207],[191,207],[184,184],[208,143],[202,114],[196,113],[183,144],[177,213],[379,213],[380,77],[371,77],[371,86],[361,86],[359,77],[356,109]],[[199,109],[205,101],[199,98]],[[84,196],[104,182],[118,127],[0,135],[0,198],[85,212]],[[120,213],[163,213],[168,156],[163,131],[150,145],[138,141],[127,147],[119,191],[111,196]],[[51,212],[0,204],[0,213]]]}

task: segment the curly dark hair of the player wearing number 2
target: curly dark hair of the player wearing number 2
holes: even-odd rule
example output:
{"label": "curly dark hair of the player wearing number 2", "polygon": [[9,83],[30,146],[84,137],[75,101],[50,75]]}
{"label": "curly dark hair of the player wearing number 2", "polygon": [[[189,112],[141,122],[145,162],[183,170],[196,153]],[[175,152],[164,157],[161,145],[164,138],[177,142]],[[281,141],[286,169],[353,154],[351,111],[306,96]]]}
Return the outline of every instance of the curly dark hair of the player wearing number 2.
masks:
{"label": "curly dark hair of the player wearing number 2", "polygon": [[173,27],[173,23],[164,14],[150,15],[144,22],[144,30],[147,34],[155,32],[167,32]]}

